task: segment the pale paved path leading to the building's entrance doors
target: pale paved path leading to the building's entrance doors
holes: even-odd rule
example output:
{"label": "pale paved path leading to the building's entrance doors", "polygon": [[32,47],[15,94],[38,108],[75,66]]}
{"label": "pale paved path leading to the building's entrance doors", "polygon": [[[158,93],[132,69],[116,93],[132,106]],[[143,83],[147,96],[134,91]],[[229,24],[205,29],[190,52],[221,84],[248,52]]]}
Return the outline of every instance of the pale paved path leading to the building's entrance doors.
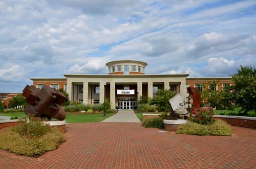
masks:
{"label": "pale paved path leading to the building's entrance doors", "polygon": [[140,123],[140,119],[133,110],[119,110],[115,115],[104,119],[102,122]]}

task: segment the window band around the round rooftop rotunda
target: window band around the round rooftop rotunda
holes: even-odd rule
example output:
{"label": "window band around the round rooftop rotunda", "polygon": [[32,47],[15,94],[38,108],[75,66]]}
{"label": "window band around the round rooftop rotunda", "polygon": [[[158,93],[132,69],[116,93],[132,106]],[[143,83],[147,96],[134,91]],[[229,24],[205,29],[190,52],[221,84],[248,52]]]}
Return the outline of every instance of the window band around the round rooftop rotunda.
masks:
{"label": "window band around the round rooftop rotunda", "polygon": [[138,71],[138,72],[141,72],[141,73],[145,72],[145,67],[143,67],[143,66],[137,66],[137,65],[117,65],[117,66],[109,67],[109,73],[114,73],[114,72],[117,72],[117,71],[124,71],[124,75],[129,75],[130,66],[131,66],[131,71]]}

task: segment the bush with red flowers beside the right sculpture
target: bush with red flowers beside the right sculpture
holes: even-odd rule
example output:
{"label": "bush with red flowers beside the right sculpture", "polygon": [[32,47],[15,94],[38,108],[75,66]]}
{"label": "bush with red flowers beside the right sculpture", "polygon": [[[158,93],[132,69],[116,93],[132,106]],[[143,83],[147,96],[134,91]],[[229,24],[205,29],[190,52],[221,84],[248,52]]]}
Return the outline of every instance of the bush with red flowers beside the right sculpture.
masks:
{"label": "bush with red flowers beside the right sculpture", "polygon": [[211,125],[215,122],[214,114],[212,108],[194,109],[189,115],[189,120],[200,125]]}

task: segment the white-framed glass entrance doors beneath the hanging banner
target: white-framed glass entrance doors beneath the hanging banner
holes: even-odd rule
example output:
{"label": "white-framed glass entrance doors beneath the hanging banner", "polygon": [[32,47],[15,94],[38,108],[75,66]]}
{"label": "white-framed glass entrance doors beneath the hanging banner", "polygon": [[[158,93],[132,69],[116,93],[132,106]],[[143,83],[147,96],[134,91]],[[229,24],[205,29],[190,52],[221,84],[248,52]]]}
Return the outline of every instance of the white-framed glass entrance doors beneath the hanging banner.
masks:
{"label": "white-framed glass entrance doors beneath the hanging banner", "polygon": [[136,108],[136,98],[117,98],[118,110],[134,110]]}

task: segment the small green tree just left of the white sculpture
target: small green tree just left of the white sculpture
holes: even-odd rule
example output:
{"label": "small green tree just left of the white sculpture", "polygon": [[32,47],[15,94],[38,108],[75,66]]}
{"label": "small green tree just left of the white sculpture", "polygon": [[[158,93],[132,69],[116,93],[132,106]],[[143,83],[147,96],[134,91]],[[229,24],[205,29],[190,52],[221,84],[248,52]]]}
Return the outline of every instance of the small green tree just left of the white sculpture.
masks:
{"label": "small green tree just left of the white sculpture", "polygon": [[156,96],[150,100],[150,104],[156,105],[158,111],[169,112],[172,108],[170,108],[168,100],[175,95],[176,92],[167,89],[158,89]]}

